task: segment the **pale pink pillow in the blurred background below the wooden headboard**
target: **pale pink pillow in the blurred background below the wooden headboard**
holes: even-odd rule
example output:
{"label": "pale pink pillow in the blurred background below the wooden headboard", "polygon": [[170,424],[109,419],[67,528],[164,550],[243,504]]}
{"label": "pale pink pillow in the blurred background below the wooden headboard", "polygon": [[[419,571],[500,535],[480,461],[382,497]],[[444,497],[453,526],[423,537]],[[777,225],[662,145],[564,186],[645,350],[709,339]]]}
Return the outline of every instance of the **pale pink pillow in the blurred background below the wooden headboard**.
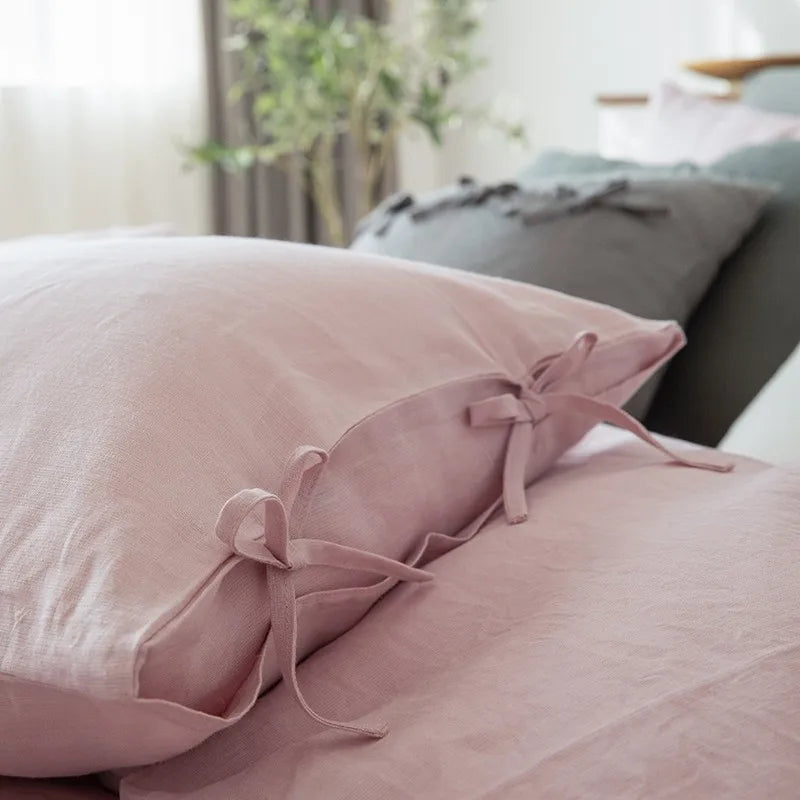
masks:
{"label": "pale pink pillow in the blurred background below the wooden headboard", "polygon": [[711,164],[734,150],[800,139],[800,117],[710,100],[662,84],[648,107],[641,160]]}

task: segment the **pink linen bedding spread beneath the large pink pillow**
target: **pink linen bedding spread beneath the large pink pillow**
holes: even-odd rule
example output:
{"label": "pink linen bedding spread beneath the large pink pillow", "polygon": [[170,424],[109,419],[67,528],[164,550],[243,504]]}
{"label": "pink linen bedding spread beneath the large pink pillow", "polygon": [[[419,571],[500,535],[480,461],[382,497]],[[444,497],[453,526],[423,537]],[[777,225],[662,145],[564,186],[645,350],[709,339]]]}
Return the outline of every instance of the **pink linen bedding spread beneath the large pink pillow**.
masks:
{"label": "pink linen bedding spread beneath the large pink pillow", "polygon": [[[687,448],[679,445],[679,451]],[[800,471],[665,465],[600,428],[233,728],[124,800],[796,798]]]}

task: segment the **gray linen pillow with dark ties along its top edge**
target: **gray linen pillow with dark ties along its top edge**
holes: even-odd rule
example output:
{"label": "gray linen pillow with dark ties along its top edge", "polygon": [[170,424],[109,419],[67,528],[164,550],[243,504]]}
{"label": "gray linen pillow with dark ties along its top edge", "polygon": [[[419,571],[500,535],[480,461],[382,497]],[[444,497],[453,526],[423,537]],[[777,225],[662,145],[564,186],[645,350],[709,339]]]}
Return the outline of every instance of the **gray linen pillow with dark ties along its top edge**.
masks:
{"label": "gray linen pillow with dark ties along its top edge", "polygon": [[[693,174],[469,179],[390,199],[351,247],[534,283],[684,324],[771,189]],[[651,382],[630,406],[642,416]]]}

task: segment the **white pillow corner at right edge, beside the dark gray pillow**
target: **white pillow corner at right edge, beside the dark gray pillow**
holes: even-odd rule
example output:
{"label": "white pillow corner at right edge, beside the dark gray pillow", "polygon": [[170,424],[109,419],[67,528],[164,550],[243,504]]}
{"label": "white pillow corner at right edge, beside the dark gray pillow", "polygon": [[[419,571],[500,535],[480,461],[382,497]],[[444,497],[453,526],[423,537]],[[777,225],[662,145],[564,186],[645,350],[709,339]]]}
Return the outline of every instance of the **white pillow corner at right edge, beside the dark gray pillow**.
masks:
{"label": "white pillow corner at right edge, beside the dark gray pillow", "polygon": [[772,464],[800,463],[800,346],[742,412],[720,449]]}

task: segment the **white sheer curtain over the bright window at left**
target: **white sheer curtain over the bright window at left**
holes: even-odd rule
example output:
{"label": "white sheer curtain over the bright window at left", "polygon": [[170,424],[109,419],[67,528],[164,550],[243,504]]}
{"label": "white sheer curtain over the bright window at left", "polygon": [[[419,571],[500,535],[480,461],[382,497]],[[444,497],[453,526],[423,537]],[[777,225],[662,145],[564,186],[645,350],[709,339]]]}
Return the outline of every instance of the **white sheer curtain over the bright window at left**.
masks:
{"label": "white sheer curtain over the bright window at left", "polygon": [[209,227],[198,0],[0,0],[0,238]]}

